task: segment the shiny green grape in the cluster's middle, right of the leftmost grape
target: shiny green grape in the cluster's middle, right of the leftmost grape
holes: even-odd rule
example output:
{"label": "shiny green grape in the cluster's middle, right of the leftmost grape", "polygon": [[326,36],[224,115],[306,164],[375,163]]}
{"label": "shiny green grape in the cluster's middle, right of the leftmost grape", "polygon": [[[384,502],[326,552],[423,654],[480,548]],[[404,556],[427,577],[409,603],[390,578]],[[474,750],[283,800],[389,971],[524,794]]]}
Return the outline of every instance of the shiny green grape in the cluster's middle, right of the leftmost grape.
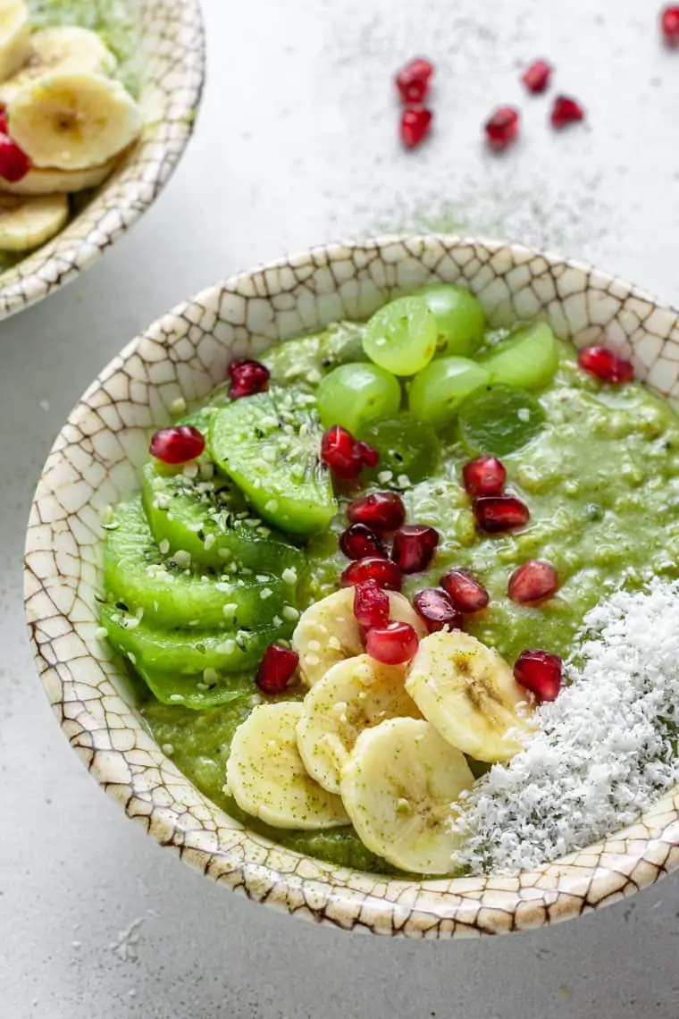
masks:
{"label": "shiny green grape in the cluster's middle, right of the leftmost grape", "polygon": [[408,407],[435,428],[443,428],[470,393],[487,385],[490,375],[467,358],[438,358],[410,383]]}

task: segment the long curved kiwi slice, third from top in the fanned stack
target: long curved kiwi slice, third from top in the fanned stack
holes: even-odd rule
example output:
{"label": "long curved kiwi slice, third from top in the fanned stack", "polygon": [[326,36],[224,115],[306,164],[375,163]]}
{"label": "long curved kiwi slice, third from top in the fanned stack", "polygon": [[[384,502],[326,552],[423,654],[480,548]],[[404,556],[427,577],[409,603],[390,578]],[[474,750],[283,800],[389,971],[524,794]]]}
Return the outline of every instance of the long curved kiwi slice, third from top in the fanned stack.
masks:
{"label": "long curved kiwi slice, third from top in the fanned stack", "polygon": [[[263,613],[280,615],[294,601],[294,582],[271,574],[243,570],[231,573],[210,567],[190,568],[183,557],[163,555],[137,497],[122,502],[106,526],[104,589],[109,600],[144,609],[147,621],[162,626],[200,626],[218,629],[257,624]],[[292,579],[292,578],[290,578]]]}

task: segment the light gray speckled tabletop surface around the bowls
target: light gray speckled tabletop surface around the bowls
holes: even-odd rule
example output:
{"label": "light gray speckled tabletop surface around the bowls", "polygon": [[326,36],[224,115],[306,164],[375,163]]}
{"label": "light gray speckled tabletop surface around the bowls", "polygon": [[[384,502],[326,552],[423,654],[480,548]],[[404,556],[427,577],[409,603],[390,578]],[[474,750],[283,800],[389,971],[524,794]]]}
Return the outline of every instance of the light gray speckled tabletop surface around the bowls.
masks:
{"label": "light gray speckled tabletop surface around the bowls", "polygon": [[[60,424],[139,329],[221,275],[429,224],[596,261],[679,301],[679,52],[649,0],[205,0],[195,138],[133,233],[0,324],[0,1019],[676,1019],[679,878],[499,940],[348,936],[231,896],[160,850],[87,774],[36,679],[21,607],[30,500]],[[396,144],[390,74],[437,63],[436,136]],[[517,71],[585,104],[555,136]],[[498,158],[479,124],[520,102]]]}

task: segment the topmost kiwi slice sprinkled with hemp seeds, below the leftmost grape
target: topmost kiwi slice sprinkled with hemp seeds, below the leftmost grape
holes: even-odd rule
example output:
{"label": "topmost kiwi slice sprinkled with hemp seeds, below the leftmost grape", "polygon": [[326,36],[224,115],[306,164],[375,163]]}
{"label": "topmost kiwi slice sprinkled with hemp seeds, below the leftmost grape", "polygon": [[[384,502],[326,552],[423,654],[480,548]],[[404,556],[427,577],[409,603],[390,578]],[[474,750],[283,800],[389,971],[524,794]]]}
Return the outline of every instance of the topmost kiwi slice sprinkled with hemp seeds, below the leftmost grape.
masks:
{"label": "topmost kiwi slice sprinkled with hemp seeds, below the leftmost grape", "polygon": [[213,460],[265,520],[291,534],[325,531],[337,513],[313,396],[271,389],[215,412]]}

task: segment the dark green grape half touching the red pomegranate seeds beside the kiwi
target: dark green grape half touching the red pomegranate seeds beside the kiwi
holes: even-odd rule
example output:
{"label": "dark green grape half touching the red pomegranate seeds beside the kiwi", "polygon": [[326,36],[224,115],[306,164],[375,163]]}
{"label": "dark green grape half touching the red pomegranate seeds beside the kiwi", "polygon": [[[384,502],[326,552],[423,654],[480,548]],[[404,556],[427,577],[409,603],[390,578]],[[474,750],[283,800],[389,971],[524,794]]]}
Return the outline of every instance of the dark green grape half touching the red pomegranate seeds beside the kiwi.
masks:
{"label": "dark green grape half touching the red pomegranate seeds beside the kiwi", "polygon": [[[378,466],[364,470],[361,478],[383,488],[402,487],[399,479],[404,475],[415,485],[430,477],[439,463],[441,444],[436,432],[412,414],[376,421],[363,428],[358,438],[380,453]],[[384,480],[387,473],[392,477]]]}

